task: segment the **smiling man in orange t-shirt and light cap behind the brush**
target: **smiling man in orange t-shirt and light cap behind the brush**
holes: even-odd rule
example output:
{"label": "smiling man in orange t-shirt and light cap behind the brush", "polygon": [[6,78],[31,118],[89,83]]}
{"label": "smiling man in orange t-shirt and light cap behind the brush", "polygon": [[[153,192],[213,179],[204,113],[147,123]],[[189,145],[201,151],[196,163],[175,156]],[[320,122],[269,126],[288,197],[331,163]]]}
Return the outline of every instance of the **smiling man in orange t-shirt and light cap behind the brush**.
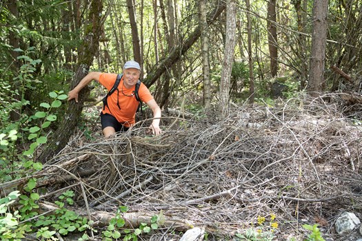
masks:
{"label": "smiling man in orange t-shirt and light cap behind the brush", "polygon": [[[101,125],[105,137],[112,136],[116,132],[125,132],[135,123],[135,116],[139,101],[134,96],[135,86],[141,74],[141,67],[136,61],[127,61],[123,67],[123,76],[117,90],[108,96],[108,105],[101,112]],[[78,94],[92,80],[99,81],[109,91],[117,79],[117,74],[90,72],[79,84],[68,93],[68,101],[74,98],[78,103]],[[152,109],[154,120],[150,125],[152,134],[160,134],[159,127],[161,109],[152,97],[148,88],[141,83],[139,86],[139,98]]]}

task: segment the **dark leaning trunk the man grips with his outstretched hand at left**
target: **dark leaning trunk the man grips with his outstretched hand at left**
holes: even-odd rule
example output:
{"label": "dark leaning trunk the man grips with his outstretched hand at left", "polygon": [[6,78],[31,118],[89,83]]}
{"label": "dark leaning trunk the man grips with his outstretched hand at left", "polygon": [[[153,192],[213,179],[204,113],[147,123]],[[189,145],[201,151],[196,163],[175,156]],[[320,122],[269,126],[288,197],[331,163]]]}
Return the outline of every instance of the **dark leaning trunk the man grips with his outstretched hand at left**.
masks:
{"label": "dark leaning trunk the man grips with his outstretched hand at left", "polygon": [[[83,44],[79,48],[79,67],[72,79],[71,88],[78,85],[79,81],[88,74],[89,66],[92,64],[94,55],[99,47],[99,36],[101,36],[101,27],[103,25],[103,22],[101,21],[103,4],[101,0],[94,0],[90,4],[88,20],[90,21],[89,25],[91,25],[92,28],[86,28]],[[46,149],[43,150],[38,158],[42,163],[46,163],[47,160],[52,158],[52,156],[57,154],[67,145],[73,130],[79,123],[83,103],[88,94],[89,89],[88,87],[85,87],[79,93],[78,103],[75,103],[75,101],[69,102],[63,122],[61,122],[53,137],[48,138]]]}

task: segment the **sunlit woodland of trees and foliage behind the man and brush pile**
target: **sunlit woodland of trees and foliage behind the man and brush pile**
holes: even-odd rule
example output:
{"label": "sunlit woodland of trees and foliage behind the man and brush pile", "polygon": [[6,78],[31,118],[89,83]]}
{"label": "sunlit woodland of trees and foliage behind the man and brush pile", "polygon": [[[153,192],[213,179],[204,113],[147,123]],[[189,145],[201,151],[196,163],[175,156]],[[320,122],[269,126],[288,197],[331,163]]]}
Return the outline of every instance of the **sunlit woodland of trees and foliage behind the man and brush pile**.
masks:
{"label": "sunlit woodland of trees and foliage behind the man and brush pile", "polygon": [[77,129],[92,138],[98,112],[82,110],[105,90],[94,83],[78,104],[66,94],[88,71],[121,72],[130,59],[164,111],[199,116],[361,88],[357,0],[0,4],[2,182],[39,171]]}

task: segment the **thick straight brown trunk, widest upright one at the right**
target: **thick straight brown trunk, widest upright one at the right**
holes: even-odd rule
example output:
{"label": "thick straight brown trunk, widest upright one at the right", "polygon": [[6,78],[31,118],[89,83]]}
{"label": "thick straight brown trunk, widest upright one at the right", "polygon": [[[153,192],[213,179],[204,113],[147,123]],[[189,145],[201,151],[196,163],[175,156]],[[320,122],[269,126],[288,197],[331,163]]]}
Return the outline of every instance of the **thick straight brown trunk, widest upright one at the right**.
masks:
{"label": "thick straight brown trunk, widest upright one at the right", "polygon": [[318,96],[318,92],[323,91],[327,13],[328,0],[314,0],[312,51],[308,83],[308,92],[312,96]]}

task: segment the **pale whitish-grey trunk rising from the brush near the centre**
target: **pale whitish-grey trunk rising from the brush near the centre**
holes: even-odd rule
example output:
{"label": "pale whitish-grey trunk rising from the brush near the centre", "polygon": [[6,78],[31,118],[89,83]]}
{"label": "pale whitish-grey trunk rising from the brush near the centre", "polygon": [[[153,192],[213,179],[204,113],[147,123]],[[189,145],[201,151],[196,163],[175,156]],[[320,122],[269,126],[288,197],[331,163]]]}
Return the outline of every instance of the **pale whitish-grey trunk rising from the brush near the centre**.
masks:
{"label": "pale whitish-grey trunk rising from the brush near the centre", "polygon": [[226,1],[226,38],[223,58],[223,70],[221,71],[220,102],[219,110],[221,118],[229,114],[229,91],[232,63],[235,52],[235,30],[237,29],[237,2],[236,0]]}

